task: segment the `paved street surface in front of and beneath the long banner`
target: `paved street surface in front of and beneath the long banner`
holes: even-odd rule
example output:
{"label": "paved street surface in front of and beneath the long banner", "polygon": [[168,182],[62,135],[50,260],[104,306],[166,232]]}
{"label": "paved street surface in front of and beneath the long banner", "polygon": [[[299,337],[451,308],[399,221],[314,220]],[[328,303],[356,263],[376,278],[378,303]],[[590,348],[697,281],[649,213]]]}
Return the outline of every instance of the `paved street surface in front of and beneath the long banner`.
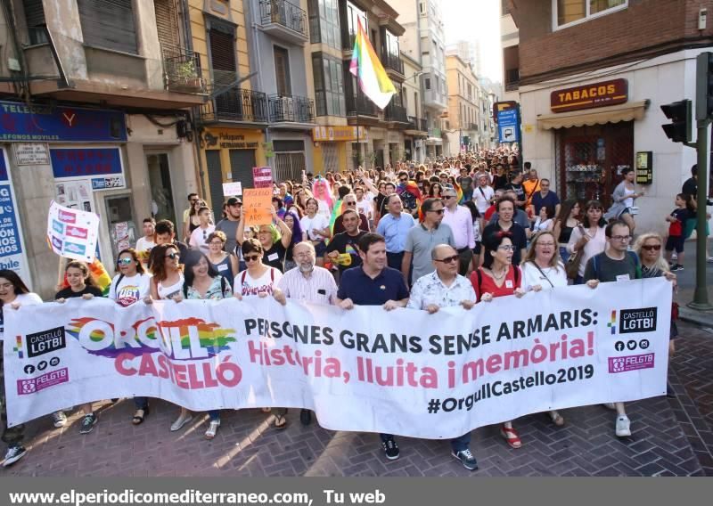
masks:
{"label": "paved street surface in front of and beneath the long banner", "polygon": [[713,476],[713,334],[681,324],[670,374],[676,398],[627,406],[632,437],[614,436],[614,412],[602,406],[563,410],[563,428],[545,414],[517,420],[523,446],[512,450],[495,426],[473,432],[479,470],[450,456],[450,445],[398,437],[401,458],[387,461],[375,434],[303,427],[272,428],[259,410],[224,412],[217,437],[203,438],[207,415],[178,433],[176,407],[156,401],[133,426],[133,403],[102,403],[100,422],[78,434],[80,414],[53,428],[50,417],[28,425],[28,455],[0,476]]}

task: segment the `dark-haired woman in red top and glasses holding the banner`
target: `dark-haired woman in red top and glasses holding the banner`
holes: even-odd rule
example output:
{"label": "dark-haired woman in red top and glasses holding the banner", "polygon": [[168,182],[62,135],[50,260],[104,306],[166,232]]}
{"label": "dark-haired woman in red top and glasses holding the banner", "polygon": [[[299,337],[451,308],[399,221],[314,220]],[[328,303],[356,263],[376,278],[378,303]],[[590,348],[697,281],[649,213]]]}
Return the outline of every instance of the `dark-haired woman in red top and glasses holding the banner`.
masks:
{"label": "dark-haired woman in red top and glasses holding the banner", "polygon": [[[483,265],[471,273],[471,283],[475,290],[477,302],[490,302],[493,298],[514,295],[522,297],[522,273],[520,267],[512,265],[515,247],[512,244],[511,233],[488,233],[483,238]],[[511,448],[520,448],[522,442],[512,420],[506,421],[500,428],[500,435]]]}

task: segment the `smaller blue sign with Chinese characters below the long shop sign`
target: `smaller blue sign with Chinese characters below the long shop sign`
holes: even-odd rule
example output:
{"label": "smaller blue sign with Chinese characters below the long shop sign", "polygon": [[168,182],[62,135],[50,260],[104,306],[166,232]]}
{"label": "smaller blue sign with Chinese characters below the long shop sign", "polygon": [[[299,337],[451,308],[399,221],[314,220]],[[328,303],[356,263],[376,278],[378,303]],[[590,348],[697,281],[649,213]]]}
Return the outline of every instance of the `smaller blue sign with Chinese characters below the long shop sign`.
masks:
{"label": "smaller blue sign with Chinese characters below the long shop sign", "polygon": [[121,174],[119,148],[51,149],[54,178]]}

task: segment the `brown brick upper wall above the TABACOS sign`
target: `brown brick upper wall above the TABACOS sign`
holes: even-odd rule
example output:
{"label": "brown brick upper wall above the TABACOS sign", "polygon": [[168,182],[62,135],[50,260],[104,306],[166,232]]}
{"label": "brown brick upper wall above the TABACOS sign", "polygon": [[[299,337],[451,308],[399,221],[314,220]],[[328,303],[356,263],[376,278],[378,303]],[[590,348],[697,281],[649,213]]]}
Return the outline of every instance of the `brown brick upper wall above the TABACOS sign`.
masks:
{"label": "brown brick upper wall above the TABACOS sign", "polygon": [[[553,31],[552,0],[508,0],[520,29],[520,85],[713,45],[713,0],[629,0],[627,9]],[[698,12],[708,24],[698,30]]]}

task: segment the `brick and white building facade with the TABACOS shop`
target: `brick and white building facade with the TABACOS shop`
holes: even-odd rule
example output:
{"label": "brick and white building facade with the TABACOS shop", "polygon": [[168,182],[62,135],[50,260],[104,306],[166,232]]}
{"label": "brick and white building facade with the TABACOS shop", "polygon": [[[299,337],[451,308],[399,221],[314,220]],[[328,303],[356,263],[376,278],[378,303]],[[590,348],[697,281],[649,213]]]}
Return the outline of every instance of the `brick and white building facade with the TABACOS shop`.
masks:
{"label": "brick and white building facade with the TABACOS shop", "polygon": [[[562,199],[608,206],[621,170],[634,167],[645,192],[635,220],[666,231],[696,154],[668,140],[660,105],[695,99],[695,59],[713,45],[701,8],[713,2],[508,2],[520,29],[523,156]],[[649,156],[651,178],[637,167]]]}

